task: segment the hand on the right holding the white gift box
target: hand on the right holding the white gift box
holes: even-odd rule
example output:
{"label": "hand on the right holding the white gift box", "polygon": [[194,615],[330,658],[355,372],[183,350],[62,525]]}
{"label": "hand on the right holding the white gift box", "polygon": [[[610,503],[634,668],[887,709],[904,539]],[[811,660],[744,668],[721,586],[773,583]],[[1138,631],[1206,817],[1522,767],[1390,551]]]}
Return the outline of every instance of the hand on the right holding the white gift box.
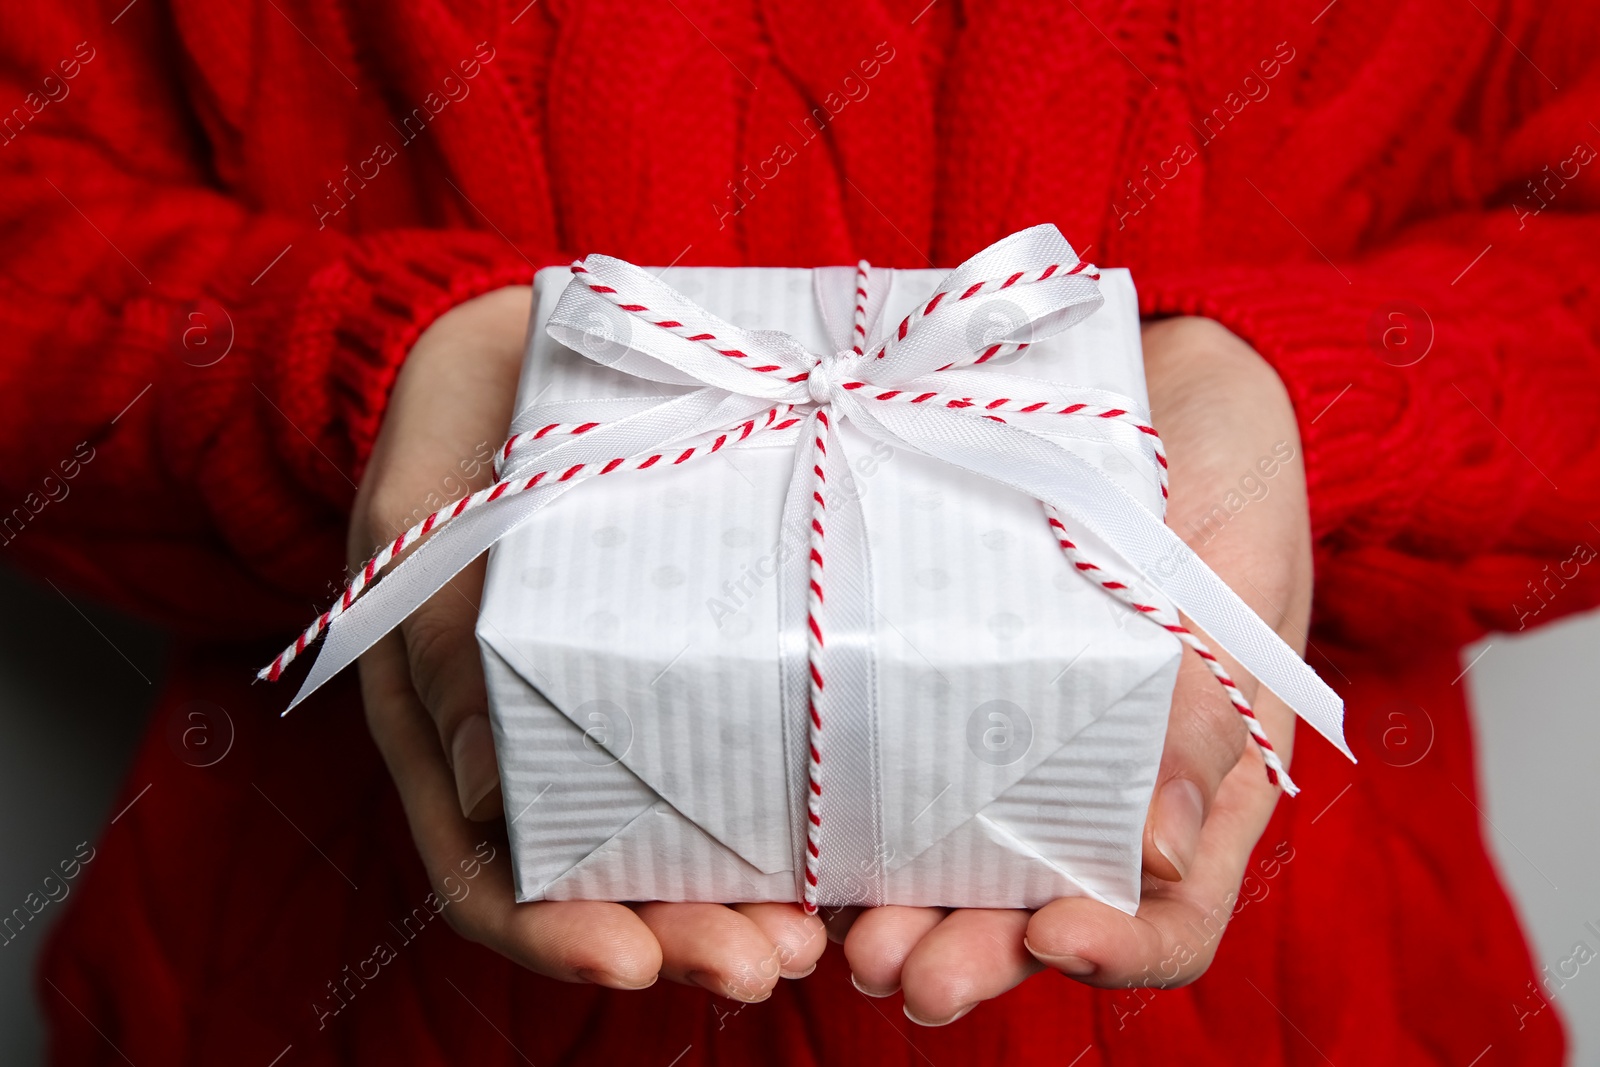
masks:
{"label": "hand on the right holding the white gift box", "polygon": [[[1248,344],[1206,318],[1147,325],[1144,362],[1152,418],[1171,462],[1168,525],[1304,651],[1310,522],[1283,382]],[[1246,502],[1235,514],[1238,501]],[[1286,765],[1293,712],[1224,659]],[[925,1025],[954,1022],[1046,966],[1106,989],[1182,985],[1216,955],[1221,933],[1202,939],[1195,931],[1227,923],[1277,798],[1238,712],[1186,649],[1144,830],[1138,915],[1074,897],[1032,913],[880,907],[842,915],[830,929],[848,929],[845,957],[856,985],[875,997],[902,989],[906,1014]]]}

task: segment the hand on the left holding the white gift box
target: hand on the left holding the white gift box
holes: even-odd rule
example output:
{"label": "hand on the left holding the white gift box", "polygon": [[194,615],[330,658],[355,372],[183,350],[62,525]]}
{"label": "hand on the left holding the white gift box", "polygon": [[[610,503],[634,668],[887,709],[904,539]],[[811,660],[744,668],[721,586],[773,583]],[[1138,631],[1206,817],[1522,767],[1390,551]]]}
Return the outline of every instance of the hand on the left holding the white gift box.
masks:
{"label": "hand on the left holding the white gift box", "polygon": [[[510,424],[531,290],[490,293],[442,315],[418,339],[362,478],[349,555],[360,566],[426,512],[493,483],[485,461]],[[466,482],[462,486],[461,483]],[[429,880],[504,838],[499,774],[474,622],[483,560],[450,581],[362,656],[366,721],[405,803]],[[502,849],[504,854],[504,849]],[[827,944],[795,904],[517,904],[509,864],[445,913],[466,937],[568,982],[643,989],[658,976],[744,1001],[811,971]]]}

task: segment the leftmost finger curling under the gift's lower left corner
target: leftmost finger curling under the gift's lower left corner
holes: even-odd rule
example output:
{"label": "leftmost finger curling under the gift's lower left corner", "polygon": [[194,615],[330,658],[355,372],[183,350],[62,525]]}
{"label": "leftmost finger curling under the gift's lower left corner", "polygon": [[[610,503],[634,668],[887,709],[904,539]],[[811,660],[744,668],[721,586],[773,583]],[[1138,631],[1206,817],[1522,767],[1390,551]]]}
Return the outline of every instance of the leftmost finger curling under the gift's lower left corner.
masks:
{"label": "leftmost finger curling under the gift's lower left corner", "polygon": [[[437,729],[411,689],[405,645],[390,633],[360,661],[362,696],[373,739],[400,789],[411,837],[445,918],[470,941],[522,966],[566,982],[642,989],[661,971],[650,928],[621,904],[517,904],[504,837],[485,840],[461,816]],[[461,888],[462,862],[482,870]]]}

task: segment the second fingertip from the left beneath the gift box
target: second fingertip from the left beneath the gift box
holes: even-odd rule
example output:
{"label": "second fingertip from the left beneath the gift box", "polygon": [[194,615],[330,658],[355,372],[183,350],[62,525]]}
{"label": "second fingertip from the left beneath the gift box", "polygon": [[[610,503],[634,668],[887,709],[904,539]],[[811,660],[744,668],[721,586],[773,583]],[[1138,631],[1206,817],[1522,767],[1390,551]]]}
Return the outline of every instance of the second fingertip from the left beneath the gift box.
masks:
{"label": "second fingertip from the left beneath the gift box", "polygon": [[750,917],[722,904],[651,902],[634,910],[661,944],[666,977],[746,1003],[773,995],[782,953]]}

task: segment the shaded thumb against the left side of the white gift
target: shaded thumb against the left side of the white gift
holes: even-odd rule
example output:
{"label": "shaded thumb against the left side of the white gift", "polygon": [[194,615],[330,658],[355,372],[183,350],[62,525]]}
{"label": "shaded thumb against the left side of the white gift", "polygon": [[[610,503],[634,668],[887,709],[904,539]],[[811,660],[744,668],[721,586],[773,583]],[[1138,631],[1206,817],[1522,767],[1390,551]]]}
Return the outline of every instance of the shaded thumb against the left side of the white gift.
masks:
{"label": "shaded thumb against the left side of the white gift", "polygon": [[485,566],[482,558],[469,565],[400,625],[411,685],[434,718],[461,813],[474,821],[501,816],[488,691],[474,632]]}

